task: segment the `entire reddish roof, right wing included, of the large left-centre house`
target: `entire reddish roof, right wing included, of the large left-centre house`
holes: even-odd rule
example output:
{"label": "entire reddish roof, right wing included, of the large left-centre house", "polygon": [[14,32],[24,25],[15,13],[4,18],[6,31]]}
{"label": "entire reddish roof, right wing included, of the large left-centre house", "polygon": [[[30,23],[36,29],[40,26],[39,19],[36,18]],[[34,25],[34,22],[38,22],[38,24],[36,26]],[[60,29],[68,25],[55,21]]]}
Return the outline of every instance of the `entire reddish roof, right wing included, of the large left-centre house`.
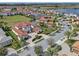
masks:
{"label": "entire reddish roof, right wing included, of the large left-centre house", "polygon": [[16,32],[16,35],[19,35],[19,36],[26,36],[28,35],[28,30],[27,31],[24,31],[22,30],[22,28],[28,28],[28,26],[30,26],[32,28],[32,31],[33,32],[39,32],[40,31],[40,28],[37,27],[36,25],[34,25],[33,23],[31,22],[19,22],[19,23],[16,23],[12,29],[14,32]]}

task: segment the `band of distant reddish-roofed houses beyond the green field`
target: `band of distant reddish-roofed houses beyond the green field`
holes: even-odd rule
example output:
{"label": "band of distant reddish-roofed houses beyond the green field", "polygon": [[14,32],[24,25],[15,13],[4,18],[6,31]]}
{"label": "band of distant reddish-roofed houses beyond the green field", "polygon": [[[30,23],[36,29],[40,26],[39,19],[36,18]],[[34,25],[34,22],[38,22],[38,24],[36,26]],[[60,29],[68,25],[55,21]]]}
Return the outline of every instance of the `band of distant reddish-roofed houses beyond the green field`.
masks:
{"label": "band of distant reddish-roofed houses beyond the green field", "polygon": [[[50,10],[46,10],[46,11],[40,11],[39,12],[39,9],[37,10],[36,8],[27,8],[25,6],[3,6],[0,8],[3,9],[2,12],[0,12],[0,14],[2,15],[14,15],[14,14],[30,14],[30,15],[33,15],[33,16],[40,16],[40,15],[45,15],[45,14],[51,14],[51,13],[58,13],[58,12],[55,12],[55,11],[50,11]],[[11,11],[12,8],[16,8],[15,11]],[[43,13],[45,12],[45,13]]]}

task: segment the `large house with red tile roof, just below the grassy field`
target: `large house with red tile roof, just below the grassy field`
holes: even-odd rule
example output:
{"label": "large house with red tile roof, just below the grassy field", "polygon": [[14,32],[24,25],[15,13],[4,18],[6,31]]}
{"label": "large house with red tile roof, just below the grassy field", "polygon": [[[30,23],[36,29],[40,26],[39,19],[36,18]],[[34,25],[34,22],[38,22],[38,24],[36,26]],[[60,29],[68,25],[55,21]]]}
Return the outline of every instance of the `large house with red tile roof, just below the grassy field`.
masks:
{"label": "large house with red tile roof, just below the grassy field", "polygon": [[18,22],[13,26],[12,31],[17,35],[18,39],[25,39],[29,37],[29,33],[39,33],[40,30],[31,22]]}

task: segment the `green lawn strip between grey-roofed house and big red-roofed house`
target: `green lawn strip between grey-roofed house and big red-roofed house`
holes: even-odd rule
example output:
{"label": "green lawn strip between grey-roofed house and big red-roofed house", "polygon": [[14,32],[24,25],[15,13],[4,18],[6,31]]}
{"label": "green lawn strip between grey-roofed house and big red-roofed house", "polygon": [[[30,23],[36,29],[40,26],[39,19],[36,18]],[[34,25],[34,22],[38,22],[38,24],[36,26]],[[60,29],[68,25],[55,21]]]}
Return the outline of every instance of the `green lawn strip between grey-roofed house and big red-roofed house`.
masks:
{"label": "green lawn strip between grey-roofed house and big red-roofed house", "polygon": [[17,36],[12,32],[12,31],[7,31],[9,36],[12,37],[12,44],[6,46],[6,47],[11,47],[14,49],[18,49],[21,48],[21,44],[22,42],[20,40],[18,40]]}

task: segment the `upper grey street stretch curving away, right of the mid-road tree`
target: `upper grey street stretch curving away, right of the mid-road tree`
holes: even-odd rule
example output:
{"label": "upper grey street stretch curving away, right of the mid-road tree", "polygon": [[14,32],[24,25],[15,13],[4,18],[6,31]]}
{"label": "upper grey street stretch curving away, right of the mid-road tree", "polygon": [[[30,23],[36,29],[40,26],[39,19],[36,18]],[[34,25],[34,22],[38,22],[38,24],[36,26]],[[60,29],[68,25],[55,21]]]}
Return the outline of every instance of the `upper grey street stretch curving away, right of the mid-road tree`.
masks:
{"label": "upper grey street stretch curving away, right of the mid-road tree", "polygon": [[56,32],[55,36],[52,36],[52,38],[57,44],[60,45],[60,43],[63,43],[66,40],[64,33],[69,30],[69,27],[67,26],[68,23],[66,21],[63,21],[63,19],[59,21],[59,23],[63,25],[63,28],[61,28],[59,32]]}

